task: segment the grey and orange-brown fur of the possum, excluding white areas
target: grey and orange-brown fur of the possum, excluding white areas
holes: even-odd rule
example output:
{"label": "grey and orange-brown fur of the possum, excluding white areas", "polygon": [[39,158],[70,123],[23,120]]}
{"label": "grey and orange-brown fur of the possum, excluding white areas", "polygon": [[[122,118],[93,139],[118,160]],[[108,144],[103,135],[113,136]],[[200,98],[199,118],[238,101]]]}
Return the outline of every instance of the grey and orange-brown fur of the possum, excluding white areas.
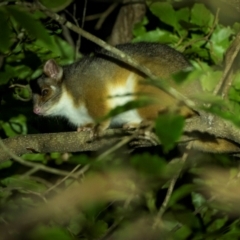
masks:
{"label": "grey and orange-brown fur of the possum, excluding white areas", "polygon": [[[191,95],[201,91],[200,84],[197,81],[192,85],[180,87],[171,79],[173,73],[190,66],[184,56],[174,49],[156,43],[123,44],[118,48],[129,54],[140,65],[149,68],[160,78],[160,81],[168,81],[172,87],[186,96],[191,97]],[[139,95],[144,95],[154,100],[152,105],[137,110],[142,119],[153,120],[159,113],[168,110],[177,111],[184,116],[193,113],[191,109],[183,105],[180,106],[173,97],[157,87],[144,84],[145,76],[143,74],[116,59],[112,53],[105,50],[100,50],[93,57],[85,57],[63,68],[58,66],[54,60],[49,60],[44,69],[47,77],[43,76],[39,79],[38,84],[41,89],[45,83],[55,86],[56,91],[54,92],[56,93],[50,89],[50,92],[53,93],[49,97],[47,96],[48,101],[41,97],[41,104],[39,104],[40,101],[37,100],[37,94],[35,94],[35,112],[38,108],[41,108],[44,114],[48,106],[54,106],[59,101],[60,97],[55,97],[55,95],[61,95],[63,91],[66,91],[76,109],[79,106],[85,106],[89,115],[94,120],[99,120],[111,110],[111,99],[109,98],[111,89],[114,93],[115,88],[121,86],[126,88],[127,80],[131,76],[130,74],[133,74],[136,78],[135,87],[130,92],[133,94],[133,98],[137,99]],[[126,90],[126,93],[128,93],[128,90]],[[129,122],[131,122],[131,119]],[[108,124],[109,121],[103,123],[105,128],[108,127]]]}

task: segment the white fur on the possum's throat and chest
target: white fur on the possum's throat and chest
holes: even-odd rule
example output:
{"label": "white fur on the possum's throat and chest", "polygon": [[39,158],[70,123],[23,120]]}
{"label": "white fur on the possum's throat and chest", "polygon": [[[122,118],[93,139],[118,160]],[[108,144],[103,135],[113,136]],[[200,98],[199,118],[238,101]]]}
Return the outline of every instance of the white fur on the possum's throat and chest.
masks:
{"label": "white fur on the possum's throat and chest", "polygon": [[73,100],[65,91],[63,91],[58,103],[48,110],[48,114],[52,116],[63,116],[77,127],[94,123],[93,118],[88,114],[87,108],[84,105],[75,107]]}

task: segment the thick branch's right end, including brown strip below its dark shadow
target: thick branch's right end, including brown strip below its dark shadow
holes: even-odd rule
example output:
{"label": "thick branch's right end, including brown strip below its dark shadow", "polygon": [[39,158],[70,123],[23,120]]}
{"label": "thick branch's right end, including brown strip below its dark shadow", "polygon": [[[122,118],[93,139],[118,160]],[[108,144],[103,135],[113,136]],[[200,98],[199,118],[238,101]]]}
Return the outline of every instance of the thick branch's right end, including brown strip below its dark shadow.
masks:
{"label": "thick branch's right end, including brown strip below its dark shadow", "polygon": [[240,129],[209,113],[189,119],[181,140],[193,140],[192,148],[209,153],[239,153]]}

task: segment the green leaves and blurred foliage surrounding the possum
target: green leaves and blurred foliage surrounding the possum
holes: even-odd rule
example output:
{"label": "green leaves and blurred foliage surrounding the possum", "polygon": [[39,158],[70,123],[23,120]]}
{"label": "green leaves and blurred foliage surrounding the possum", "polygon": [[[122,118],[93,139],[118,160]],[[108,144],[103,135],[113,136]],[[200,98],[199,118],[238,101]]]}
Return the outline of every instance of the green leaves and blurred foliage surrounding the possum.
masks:
{"label": "green leaves and blurred foliage surrounding the possum", "polygon": [[[40,2],[56,12],[71,4],[69,0]],[[169,2],[148,3],[149,12],[136,24],[133,42],[161,42],[184,52],[195,70],[187,76],[176,76],[176,81],[198,78],[206,91],[213,90],[222,76],[224,54],[239,24],[218,23],[217,15],[201,3],[174,8]],[[47,126],[43,122],[39,126],[31,103],[19,100],[29,97],[28,90],[9,88],[36,79],[42,63],[50,58],[69,64],[80,57],[64,39],[60,25],[44,12],[27,6],[0,6],[3,138],[69,130],[61,122],[56,127],[53,119],[43,120]],[[209,95],[198,99],[211,103],[211,108],[204,110],[239,125],[239,116],[232,114],[240,108],[239,84],[240,75],[236,73],[229,104]],[[114,109],[110,116],[142,104],[146,103],[128,103]],[[129,155],[123,146],[103,158],[92,153],[21,156],[31,163],[69,171],[65,177],[35,173],[34,168],[29,170],[14,160],[1,163],[1,235],[4,231],[11,239],[107,239],[116,229],[114,239],[238,239],[238,162],[229,156],[202,153],[189,153],[183,161],[176,147],[183,126],[184,119],[175,113],[159,116],[155,128],[162,148],[148,152],[139,150]],[[86,171],[75,176],[79,167],[79,172],[84,168]],[[156,216],[174,179],[177,182],[155,231]]]}

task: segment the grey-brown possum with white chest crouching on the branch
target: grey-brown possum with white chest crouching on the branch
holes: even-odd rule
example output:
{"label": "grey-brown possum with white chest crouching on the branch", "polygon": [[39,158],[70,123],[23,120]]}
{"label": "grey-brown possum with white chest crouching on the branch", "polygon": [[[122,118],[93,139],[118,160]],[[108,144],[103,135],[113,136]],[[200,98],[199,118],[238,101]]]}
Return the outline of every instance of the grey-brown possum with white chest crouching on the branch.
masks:
{"label": "grey-brown possum with white chest crouching on the branch", "polygon": [[[159,43],[127,43],[117,48],[130,55],[140,65],[164,81],[169,81],[188,97],[199,91],[199,83],[178,86],[171,75],[187,69],[190,64],[178,51]],[[135,100],[139,94],[153,97],[153,104],[128,110],[98,124],[96,132],[109,127],[132,128],[142,121],[154,120],[161,111],[176,105],[177,101],[157,87],[143,83],[144,76],[133,67],[118,60],[106,50],[99,50],[94,56],[59,66],[55,60],[48,60],[43,75],[35,82],[33,111],[43,116],[62,116],[79,131],[92,131],[96,120],[111,109]],[[183,116],[193,111],[182,106]]]}

